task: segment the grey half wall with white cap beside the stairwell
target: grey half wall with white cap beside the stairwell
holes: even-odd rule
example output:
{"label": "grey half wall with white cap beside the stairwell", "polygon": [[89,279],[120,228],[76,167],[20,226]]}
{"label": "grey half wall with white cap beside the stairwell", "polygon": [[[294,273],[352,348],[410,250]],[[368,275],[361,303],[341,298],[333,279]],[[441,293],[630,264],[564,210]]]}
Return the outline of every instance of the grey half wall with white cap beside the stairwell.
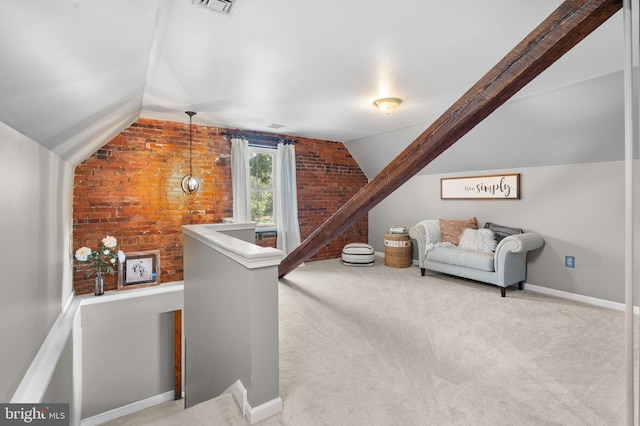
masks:
{"label": "grey half wall with white cap beside the stairwell", "polygon": [[249,406],[279,411],[282,252],[253,244],[254,223],[189,225],[183,232],[185,406],[240,381]]}

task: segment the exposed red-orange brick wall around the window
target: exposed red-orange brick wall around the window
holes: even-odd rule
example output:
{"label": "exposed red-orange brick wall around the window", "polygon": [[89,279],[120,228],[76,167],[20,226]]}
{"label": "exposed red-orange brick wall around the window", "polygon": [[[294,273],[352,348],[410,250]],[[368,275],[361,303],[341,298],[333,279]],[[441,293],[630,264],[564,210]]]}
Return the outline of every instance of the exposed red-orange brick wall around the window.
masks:
{"label": "exposed red-orange brick wall around the window", "polygon": [[[186,121],[186,120],[185,120]],[[230,144],[225,129],[193,125],[193,170],[200,191],[186,195],[189,125],[140,119],[78,165],[73,192],[73,247],[98,247],[106,235],[125,252],[160,250],[161,282],[183,279],[182,225],[218,223],[232,216]],[[298,219],[304,240],[367,179],[342,143],[300,139],[296,144]],[[340,256],[344,244],[367,241],[364,217],[311,260]],[[275,238],[256,241],[275,247]],[[93,292],[86,267],[74,273],[77,294]],[[117,286],[107,276],[106,290]]]}

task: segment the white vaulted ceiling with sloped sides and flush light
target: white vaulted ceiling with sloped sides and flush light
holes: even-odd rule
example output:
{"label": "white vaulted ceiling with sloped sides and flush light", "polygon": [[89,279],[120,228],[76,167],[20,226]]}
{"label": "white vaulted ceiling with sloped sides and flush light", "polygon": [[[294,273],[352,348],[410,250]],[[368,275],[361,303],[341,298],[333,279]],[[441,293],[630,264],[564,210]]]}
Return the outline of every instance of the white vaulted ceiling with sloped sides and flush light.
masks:
{"label": "white vaulted ceiling with sloped sides and flush light", "polygon": [[[0,0],[0,121],[76,164],[140,117],[194,110],[194,124],[345,142],[372,177],[560,3],[237,0],[225,15],[191,0]],[[621,18],[431,170],[473,170],[483,153],[493,168],[621,158]],[[386,96],[403,100],[390,115],[373,106]]]}

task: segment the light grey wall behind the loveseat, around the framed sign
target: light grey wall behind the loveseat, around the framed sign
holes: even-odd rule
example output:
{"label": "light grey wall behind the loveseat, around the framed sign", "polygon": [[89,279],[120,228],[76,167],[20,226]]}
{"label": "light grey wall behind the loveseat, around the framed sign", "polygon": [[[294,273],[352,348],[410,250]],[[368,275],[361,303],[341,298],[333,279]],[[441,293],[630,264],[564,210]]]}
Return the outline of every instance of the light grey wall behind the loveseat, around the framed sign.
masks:
{"label": "light grey wall behind the loveseat, around the framed sign", "polygon": [[[496,173],[520,173],[520,200],[440,199],[442,177]],[[418,175],[371,210],[369,242],[384,252],[391,225],[472,216],[480,226],[490,221],[542,234],[544,247],[529,255],[527,283],[624,302],[624,162]],[[567,255],[575,256],[575,268],[564,266]]]}

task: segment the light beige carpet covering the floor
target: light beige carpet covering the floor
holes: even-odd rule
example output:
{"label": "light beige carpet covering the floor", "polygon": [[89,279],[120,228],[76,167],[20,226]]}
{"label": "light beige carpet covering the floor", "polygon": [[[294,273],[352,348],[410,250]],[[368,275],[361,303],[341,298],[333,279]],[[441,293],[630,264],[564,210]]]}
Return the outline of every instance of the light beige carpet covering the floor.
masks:
{"label": "light beige carpet covering the floor", "polygon": [[[284,409],[261,425],[624,424],[622,312],[379,257],[307,263],[279,297]],[[224,395],[110,424],[247,422]]]}

